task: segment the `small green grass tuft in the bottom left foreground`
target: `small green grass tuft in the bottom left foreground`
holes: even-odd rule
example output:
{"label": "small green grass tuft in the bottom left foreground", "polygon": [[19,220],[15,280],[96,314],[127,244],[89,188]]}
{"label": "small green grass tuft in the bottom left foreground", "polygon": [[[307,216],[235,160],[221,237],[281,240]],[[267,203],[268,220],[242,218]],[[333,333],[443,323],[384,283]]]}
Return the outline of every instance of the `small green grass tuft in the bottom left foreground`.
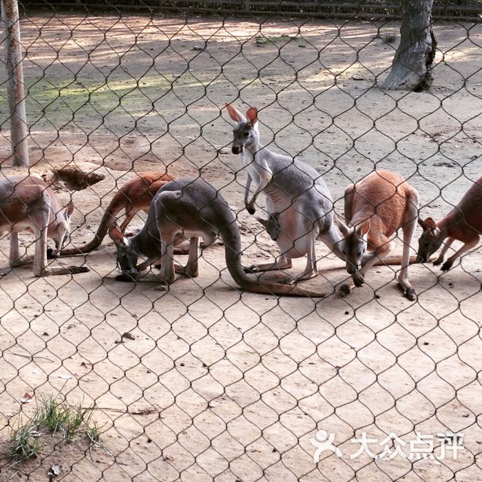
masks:
{"label": "small green grass tuft in the bottom left foreground", "polygon": [[91,450],[93,447],[103,448],[98,426],[91,423],[91,417],[90,408],[82,408],[80,404],[72,406],[53,395],[45,395],[40,398],[27,423],[19,422],[19,426],[12,429],[8,454],[16,463],[36,457],[41,451],[41,438],[46,432],[66,442],[85,437]]}

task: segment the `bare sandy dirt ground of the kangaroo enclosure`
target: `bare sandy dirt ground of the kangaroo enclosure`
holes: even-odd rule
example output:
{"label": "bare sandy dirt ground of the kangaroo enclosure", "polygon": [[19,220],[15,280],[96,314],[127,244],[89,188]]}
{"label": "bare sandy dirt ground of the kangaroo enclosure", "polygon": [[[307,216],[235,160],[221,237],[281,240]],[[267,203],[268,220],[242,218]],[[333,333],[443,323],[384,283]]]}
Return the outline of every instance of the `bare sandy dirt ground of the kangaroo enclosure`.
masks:
{"label": "bare sandy dirt ground of the kangaroo enclosure", "polygon": [[[410,94],[375,86],[390,67],[398,28],[28,17],[21,30],[31,171],[75,163],[105,174],[72,193],[79,245],[136,171],[200,173],[238,213],[245,264],[264,262],[277,250],[244,209],[244,174],[220,112],[233,102],[260,109],[265,145],[324,176],[339,213],[346,185],[377,167],[409,178],[421,215],[439,220],[482,172],[482,27],[435,25],[433,88]],[[391,34],[394,44],[386,41]],[[8,176],[22,169],[9,167],[6,109],[1,103]],[[66,205],[71,194],[59,197]],[[31,239],[23,240],[31,252]],[[399,252],[401,241],[395,245]],[[411,266],[417,302],[401,296],[396,266],[377,267],[345,299],[278,299],[236,289],[220,245],[203,252],[199,277],[180,278],[167,292],[153,282],[116,282],[110,240],[85,259],[52,262],[90,267],[73,277],[36,279],[31,266],[9,271],[7,236],[0,249],[8,273],[0,280],[3,445],[32,411],[21,405],[25,392],[38,399],[59,391],[72,404],[95,404],[108,451],[59,445],[21,472],[4,459],[5,479],[25,473],[45,481],[50,465],[61,463],[65,481],[482,480],[480,249],[443,275],[429,264]],[[321,273],[306,284],[333,292],[346,271],[321,242],[317,255]],[[121,337],[126,332],[134,339]],[[310,439],[320,429],[335,434],[342,457],[324,452],[314,463]],[[357,450],[350,440],[362,432],[377,439],[375,454],[391,432],[406,443],[426,434],[439,457],[436,435],[447,431],[463,434],[457,460],[350,459]]]}

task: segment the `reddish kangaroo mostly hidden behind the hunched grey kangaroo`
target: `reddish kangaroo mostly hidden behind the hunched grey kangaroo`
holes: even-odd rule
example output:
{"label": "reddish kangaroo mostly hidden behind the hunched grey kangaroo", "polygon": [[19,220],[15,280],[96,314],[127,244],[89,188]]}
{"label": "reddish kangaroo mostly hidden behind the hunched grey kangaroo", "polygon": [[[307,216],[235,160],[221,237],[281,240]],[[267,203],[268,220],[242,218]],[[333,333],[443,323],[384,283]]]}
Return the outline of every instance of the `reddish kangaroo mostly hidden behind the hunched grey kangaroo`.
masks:
{"label": "reddish kangaroo mostly hidden behind the hunched grey kangaroo", "polygon": [[76,254],[86,254],[94,251],[105,238],[109,228],[116,222],[116,216],[125,209],[125,220],[121,224],[121,231],[125,229],[136,216],[138,211],[149,212],[149,206],[156,192],[165,185],[166,182],[173,180],[169,174],[161,172],[139,172],[136,178],[131,179],[121,187],[109,202],[109,206],[105,209],[102,216],[101,224],[99,224],[94,239],[82,247],[71,249],[63,249],[61,256],[73,256]]}

